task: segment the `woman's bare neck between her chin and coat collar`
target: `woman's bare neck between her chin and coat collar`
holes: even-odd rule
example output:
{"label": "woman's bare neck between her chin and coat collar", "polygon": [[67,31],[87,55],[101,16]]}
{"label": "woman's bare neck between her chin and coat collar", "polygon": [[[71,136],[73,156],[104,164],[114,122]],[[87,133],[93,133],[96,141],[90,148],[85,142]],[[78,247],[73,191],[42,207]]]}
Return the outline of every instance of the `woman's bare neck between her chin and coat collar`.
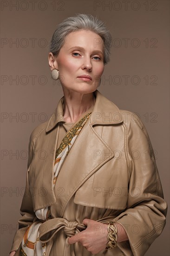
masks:
{"label": "woman's bare neck between her chin and coat collar", "polygon": [[66,122],[74,123],[89,108],[94,106],[95,96],[92,93],[80,94],[64,91],[64,113]]}

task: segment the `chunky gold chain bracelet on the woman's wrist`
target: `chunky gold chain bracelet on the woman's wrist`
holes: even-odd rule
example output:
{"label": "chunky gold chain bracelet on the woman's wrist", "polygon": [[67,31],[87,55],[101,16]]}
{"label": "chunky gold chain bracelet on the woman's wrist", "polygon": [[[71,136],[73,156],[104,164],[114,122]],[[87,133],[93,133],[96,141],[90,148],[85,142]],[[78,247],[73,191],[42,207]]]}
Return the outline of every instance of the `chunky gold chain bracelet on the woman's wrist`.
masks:
{"label": "chunky gold chain bracelet on the woman's wrist", "polygon": [[115,225],[114,222],[109,222],[108,226],[107,226],[107,230],[108,230],[107,240],[109,242],[106,244],[106,249],[110,250],[110,249],[115,248],[117,246],[118,228],[117,228],[117,226]]}

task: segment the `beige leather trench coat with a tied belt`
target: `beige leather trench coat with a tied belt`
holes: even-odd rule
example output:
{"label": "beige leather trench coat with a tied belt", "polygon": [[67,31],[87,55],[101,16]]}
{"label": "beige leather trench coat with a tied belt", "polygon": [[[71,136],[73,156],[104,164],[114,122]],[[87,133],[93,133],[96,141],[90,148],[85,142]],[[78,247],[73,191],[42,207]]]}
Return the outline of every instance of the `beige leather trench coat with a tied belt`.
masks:
{"label": "beige leather trench coat with a tied belt", "polygon": [[51,206],[52,220],[42,223],[40,240],[50,256],[92,255],[80,243],[67,243],[69,236],[85,229],[81,224],[85,218],[116,221],[127,232],[129,241],[98,255],[142,256],[163,230],[167,204],[144,124],[98,90],[94,94],[92,114],[60,169],[54,190],[54,156],[63,113],[57,108],[30,136],[22,217],[11,249],[15,255],[27,226],[36,220],[34,211],[46,206]]}

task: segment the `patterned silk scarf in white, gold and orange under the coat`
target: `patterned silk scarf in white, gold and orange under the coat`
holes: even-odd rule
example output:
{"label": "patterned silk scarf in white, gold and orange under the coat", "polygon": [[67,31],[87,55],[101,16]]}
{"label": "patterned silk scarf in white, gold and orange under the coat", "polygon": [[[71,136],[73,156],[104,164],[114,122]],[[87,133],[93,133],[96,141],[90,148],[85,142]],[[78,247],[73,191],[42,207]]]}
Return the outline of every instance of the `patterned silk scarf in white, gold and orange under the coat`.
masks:
{"label": "patterned silk scarf in white, gold and orange under the coat", "polygon": [[[64,139],[61,141],[59,148],[56,150],[55,162],[54,162],[54,178],[53,178],[53,189],[59,174],[62,163],[64,162],[66,156],[70,152],[72,145],[81,129],[88,120],[90,114],[89,112],[85,115],[76,125],[71,128],[65,135]],[[46,221],[50,219],[50,209],[46,207],[44,209],[39,209],[35,211],[35,215],[39,220]],[[28,227],[21,243],[20,256],[45,256],[46,255],[46,243],[41,243],[39,241],[39,226],[42,221],[33,222],[31,226]]]}

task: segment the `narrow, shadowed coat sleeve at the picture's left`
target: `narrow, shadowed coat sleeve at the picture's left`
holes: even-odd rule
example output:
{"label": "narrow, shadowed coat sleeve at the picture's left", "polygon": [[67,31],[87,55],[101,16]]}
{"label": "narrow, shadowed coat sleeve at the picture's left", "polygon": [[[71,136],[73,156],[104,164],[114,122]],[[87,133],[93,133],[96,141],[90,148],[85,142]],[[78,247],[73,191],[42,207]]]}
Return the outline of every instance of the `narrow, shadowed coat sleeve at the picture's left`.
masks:
{"label": "narrow, shadowed coat sleeve at the picture's left", "polygon": [[31,165],[31,162],[33,160],[34,155],[34,143],[33,143],[33,133],[30,135],[30,141],[28,146],[28,163],[27,163],[27,173],[26,173],[26,188],[25,193],[22,199],[21,207],[20,207],[20,214],[21,218],[19,219],[19,229],[16,231],[14,238],[13,238],[13,244],[11,251],[16,251],[15,255],[18,255],[20,251],[20,244],[22,242],[22,238],[26,232],[26,229],[28,226],[30,226],[33,223],[35,216],[35,213],[33,211],[33,203],[32,198],[30,194],[30,188],[28,183],[28,172]]}

